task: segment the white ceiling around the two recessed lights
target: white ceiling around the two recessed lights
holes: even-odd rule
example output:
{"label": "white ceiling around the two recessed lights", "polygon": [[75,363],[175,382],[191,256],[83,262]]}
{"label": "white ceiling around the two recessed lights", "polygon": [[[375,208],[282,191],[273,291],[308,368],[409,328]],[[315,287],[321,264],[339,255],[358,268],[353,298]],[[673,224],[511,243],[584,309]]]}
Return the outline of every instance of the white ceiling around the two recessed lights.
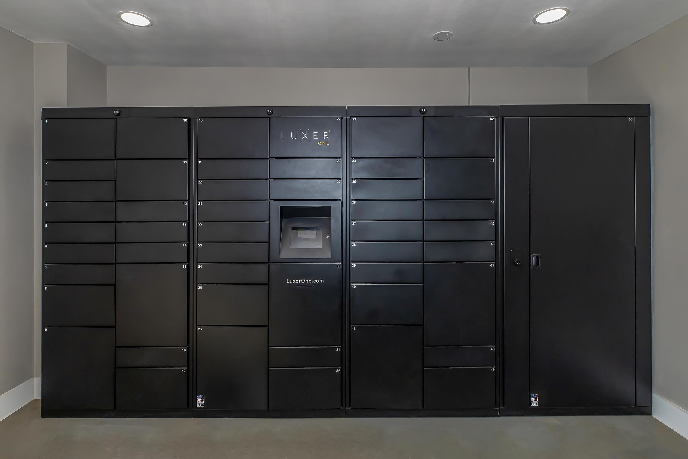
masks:
{"label": "white ceiling around the two recessed lights", "polygon": [[[570,16],[533,23],[558,6]],[[107,65],[206,67],[584,67],[685,14],[687,0],[0,1],[0,25],[34,42]],[[453,39],[433,41],[440,30]]]}

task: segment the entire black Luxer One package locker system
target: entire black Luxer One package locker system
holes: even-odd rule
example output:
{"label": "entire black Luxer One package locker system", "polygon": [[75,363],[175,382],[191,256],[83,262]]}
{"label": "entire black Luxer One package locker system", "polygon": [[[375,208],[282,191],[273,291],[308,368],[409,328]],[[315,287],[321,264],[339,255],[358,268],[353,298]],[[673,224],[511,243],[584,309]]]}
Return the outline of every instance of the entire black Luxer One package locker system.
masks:
{"label": "entire black Luxer One package locker system", "polygon": [[43,416],[651,412],[647,105],[42,125]]}

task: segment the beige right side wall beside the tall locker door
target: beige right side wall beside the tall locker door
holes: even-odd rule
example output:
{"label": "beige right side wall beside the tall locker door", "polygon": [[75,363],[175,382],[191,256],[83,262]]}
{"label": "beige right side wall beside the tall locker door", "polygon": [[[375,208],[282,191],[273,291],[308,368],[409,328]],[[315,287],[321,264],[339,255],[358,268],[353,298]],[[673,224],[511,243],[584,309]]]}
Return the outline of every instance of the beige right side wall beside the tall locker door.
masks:
{"label": "beige right side wall beside the tall locker door", "polygon": [[688,409],[688,16],[592,65],[590,103],[652,104],[653,392]]}

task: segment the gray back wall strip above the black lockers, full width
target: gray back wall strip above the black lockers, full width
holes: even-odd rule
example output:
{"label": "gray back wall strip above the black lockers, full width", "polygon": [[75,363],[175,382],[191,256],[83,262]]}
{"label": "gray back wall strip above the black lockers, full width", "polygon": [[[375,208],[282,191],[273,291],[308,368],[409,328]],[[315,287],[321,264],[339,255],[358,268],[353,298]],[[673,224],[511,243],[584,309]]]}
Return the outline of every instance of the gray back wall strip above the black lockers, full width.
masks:
{"label": "gray back wall strip above the black lockers, full width", "polygon": [[[108,67],[107,104],[585,103],[584,68]],[[469,84],[470,82],[470,84]]]}

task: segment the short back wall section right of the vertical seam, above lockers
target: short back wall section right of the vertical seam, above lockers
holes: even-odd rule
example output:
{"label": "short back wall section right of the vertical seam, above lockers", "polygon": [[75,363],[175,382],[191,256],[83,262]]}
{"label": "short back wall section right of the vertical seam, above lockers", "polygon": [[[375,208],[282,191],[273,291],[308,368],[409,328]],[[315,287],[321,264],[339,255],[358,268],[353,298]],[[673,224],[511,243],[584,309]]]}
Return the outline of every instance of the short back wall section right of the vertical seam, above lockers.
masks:
{"label": "short back wall section right of the vertical seam, above lockers", "polygon": [[471,105],[584,104],[588,71],[563,67],[471,67]]}

